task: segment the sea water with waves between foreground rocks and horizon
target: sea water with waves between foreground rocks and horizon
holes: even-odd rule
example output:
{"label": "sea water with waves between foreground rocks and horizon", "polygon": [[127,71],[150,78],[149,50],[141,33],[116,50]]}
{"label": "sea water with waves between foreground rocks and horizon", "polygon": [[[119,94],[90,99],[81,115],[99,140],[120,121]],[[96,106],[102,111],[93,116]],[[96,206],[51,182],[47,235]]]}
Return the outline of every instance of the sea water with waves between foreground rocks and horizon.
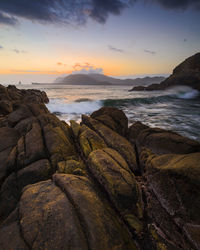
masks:
{"label": "sea water with waves between foreground rocks and horizon", "polygon": [[200,141],[200,93],[189,87],[166,91],[129,92],[130,86],[21,85],[47,93],[48,109],[60,119],[81,120],[103,107],[122,109],[129,124],[141,121],[151,127],[173,130]]}

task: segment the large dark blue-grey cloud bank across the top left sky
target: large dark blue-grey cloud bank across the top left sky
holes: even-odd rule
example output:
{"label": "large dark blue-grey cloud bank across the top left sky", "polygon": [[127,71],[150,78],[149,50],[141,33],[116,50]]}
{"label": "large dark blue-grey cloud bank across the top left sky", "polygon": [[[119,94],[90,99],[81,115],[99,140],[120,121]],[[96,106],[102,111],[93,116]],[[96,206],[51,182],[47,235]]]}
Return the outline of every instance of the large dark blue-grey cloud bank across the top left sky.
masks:
{"label": "large dark blue-grey cloud bank across the top left sky", "polygon": [[[135,0],[1,0],[4,23],[16,24],[19,17],[44,23],[86,23],[88,17],[105,23],[110,14],[119,15]],[[12,17],[14,16],[14,17]],[[3,22],[2,21],[2,22]]]}

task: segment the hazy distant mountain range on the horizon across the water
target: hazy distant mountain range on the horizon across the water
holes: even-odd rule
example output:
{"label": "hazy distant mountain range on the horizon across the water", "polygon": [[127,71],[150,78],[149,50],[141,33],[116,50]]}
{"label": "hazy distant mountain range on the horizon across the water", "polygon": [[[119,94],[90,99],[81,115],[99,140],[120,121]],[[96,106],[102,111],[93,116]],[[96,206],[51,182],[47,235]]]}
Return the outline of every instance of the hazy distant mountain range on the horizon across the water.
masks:
{"label": "hazy distant mountain range on the horizon across the water", "polygon": [[149,85],[151,83],[160,83],[165,78],[162,76],[144,77],[136,79],[117,79],[103,74],[71,74],[64,78],[59,77],[54,84],[66,85]]}

